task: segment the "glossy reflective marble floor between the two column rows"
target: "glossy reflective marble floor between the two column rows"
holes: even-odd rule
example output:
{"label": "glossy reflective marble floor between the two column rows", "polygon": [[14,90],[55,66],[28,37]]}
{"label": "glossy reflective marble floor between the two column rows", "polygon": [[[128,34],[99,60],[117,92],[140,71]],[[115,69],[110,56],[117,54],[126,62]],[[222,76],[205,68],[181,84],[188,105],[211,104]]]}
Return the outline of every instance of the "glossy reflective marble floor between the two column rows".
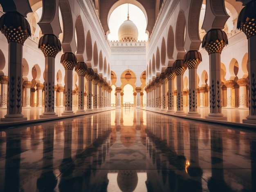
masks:
{"label": "glossy reflective marble floor between the two column rows", "polygon": [[136,108],[0,130],[0,192],[255,192],[256,132]]}

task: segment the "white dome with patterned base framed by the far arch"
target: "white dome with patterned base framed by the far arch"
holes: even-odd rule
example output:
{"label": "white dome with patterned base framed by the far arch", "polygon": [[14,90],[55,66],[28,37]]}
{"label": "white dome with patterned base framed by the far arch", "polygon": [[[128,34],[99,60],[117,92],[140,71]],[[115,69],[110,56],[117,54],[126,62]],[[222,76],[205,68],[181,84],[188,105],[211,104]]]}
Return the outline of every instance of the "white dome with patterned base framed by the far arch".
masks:
{"label": "white dome with patterned base framed by the far arch", "polygon": [[136,42],[138,39],[138,28],[131,21],[124,21],[118,29],[118,38],[120,42]]}

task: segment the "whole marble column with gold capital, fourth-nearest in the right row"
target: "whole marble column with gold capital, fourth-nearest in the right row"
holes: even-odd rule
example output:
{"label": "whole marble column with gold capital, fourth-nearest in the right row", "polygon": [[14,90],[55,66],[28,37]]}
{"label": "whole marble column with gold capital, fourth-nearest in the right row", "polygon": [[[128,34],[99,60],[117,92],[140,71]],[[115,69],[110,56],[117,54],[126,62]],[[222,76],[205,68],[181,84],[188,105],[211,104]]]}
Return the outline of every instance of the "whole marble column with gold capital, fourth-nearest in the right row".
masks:
{"label": "whole marble column with gold capital, fourth-nearest in the right row", "polygon": [[186,63],[183,60],[176,60],[173,63],[173,71],[177,75],[177,111],[175,114],[185,115],[183,110],[183,75],[186,70]]}

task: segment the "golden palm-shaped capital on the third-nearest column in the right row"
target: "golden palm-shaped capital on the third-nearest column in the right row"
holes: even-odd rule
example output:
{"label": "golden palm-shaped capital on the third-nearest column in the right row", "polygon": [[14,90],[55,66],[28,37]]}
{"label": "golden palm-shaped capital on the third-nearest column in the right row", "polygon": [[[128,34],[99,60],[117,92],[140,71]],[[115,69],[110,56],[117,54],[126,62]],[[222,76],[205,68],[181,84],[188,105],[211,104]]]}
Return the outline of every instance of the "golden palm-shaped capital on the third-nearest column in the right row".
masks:
{"label": "golden palm-shaped capital on the third-nearest column in the right row", "polygon": [[184,57],[184,63],[189,69],[198,68],[200,62],[202,62],[202,55],[198,51],[189,51]]}

